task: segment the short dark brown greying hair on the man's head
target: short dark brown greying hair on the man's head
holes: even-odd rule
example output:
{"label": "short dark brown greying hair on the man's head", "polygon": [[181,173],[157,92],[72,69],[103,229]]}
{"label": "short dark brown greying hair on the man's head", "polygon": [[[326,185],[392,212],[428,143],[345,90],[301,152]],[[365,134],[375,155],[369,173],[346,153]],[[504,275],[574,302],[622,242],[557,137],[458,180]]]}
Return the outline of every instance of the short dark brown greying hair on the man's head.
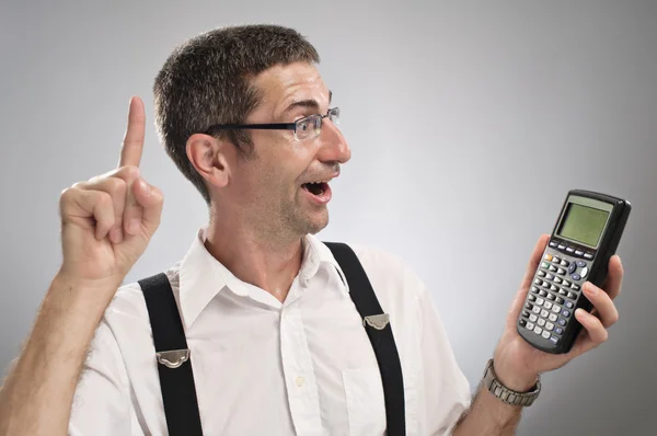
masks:
{"label": "short dark brown greying hair on the man's head", "polygon": [[[176,47],[153,85],[160,140],[183,175],[210,196],[186,153],[189,136],[215,124],[241,124],[261,102],[251,78],[296,61],[319,64],[315,48],[297,31],[266,24],[216,28]],[[244,131],[220,131],[246,158],[253,148]]]}

